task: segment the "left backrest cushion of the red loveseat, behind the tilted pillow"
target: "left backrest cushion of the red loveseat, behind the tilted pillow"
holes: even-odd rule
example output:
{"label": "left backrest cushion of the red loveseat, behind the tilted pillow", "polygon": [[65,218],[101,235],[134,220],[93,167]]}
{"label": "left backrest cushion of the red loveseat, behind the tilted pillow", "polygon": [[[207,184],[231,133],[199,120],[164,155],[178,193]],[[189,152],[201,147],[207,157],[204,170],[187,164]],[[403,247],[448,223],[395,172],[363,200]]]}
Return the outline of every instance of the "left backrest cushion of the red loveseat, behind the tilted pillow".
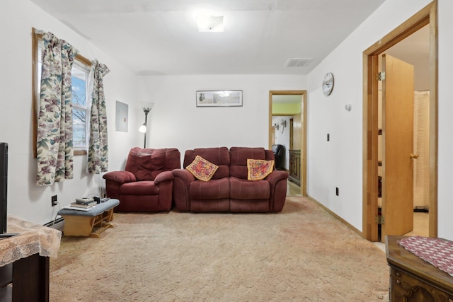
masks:
{"label": "left backrest cushion of the red loveseat, behind the tilted pillow", "polygon": [[183,168],[190,165],[197,155],[219,167],[215,171],[214,175],[212,175],[211,180],[229,177],[229,151],[226,147],[186,150],[184,154]]}

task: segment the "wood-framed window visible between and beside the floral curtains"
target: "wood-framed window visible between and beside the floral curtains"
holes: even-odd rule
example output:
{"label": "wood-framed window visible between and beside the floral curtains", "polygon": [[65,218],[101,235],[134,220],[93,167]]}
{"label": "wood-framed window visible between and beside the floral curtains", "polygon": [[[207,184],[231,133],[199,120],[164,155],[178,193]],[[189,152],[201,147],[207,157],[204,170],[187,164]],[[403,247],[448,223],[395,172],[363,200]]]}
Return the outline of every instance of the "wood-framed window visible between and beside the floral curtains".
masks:
{"label": "wood-framed window visible between and beside the floral curtains", "polygon": [[[33,28],[33,156],[36,158],[36,138],[38,131],[39,95],[41,81],[41,51],[44,47],[42,34]],[[77,54],[71,68],[72,85],[72,126],[74,155],[86,154],[88,146],[88,74],[91,61]]]}

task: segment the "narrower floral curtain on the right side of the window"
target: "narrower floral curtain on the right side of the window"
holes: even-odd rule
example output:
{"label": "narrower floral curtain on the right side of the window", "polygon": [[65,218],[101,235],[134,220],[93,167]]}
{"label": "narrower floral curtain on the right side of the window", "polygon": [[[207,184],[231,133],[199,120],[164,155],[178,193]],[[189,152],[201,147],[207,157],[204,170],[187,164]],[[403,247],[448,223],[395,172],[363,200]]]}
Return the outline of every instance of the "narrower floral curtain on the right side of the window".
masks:
{"label": "narrower floral curtain on the right side of the window", "polygon": [[110,70],[97,60],[93,62],[93,93],[91,95],[90,144],[88,145],[88,173],[100,174],[108,169],[107,110],[103,77]]}

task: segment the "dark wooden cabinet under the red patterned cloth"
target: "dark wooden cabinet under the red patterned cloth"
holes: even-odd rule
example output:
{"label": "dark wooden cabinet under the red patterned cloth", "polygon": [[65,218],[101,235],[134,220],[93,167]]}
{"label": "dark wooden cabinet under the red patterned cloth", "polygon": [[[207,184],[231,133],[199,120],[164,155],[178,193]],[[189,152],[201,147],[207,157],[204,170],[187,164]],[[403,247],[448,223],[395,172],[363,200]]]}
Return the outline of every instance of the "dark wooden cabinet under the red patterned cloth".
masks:
{"label": "dark wooden cabinet under the red patterned cloth", "polygon": [[403,248],[401,238],[386,236],[390,301],[453,302],[453,277]]}

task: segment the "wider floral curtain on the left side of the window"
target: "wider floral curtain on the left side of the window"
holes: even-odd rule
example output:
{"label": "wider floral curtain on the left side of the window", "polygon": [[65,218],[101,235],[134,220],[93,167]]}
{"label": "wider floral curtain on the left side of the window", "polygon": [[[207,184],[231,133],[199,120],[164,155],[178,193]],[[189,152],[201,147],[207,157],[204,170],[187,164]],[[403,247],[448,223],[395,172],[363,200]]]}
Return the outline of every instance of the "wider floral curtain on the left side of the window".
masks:
{"label": "wider floral curtain on the left side of the window", "polygon": [[52,33],[42,37],[37,185],[72,179],[71,67],[78,50]]}

